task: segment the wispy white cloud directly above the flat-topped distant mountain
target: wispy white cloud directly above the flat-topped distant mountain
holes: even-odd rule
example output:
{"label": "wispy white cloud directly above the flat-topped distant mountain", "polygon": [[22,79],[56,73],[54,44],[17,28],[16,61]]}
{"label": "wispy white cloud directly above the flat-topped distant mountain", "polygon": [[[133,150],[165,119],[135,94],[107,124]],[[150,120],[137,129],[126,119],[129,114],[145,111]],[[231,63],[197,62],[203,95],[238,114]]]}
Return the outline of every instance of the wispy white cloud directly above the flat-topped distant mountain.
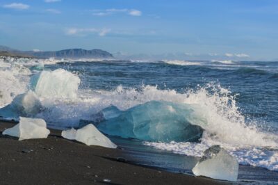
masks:
{"label": "wispy white cloud directly above the flat-topped distant mountain", "polygon": [[66,35],[79,35],[79,36],[85,36],[88,35],[90,33],[97,33],[99,36],[103,37],[105,36],[107,33],[111,32],[111,29],[76,29],[76,28],[71,28],[71,29],[67,29],[65,31]]}

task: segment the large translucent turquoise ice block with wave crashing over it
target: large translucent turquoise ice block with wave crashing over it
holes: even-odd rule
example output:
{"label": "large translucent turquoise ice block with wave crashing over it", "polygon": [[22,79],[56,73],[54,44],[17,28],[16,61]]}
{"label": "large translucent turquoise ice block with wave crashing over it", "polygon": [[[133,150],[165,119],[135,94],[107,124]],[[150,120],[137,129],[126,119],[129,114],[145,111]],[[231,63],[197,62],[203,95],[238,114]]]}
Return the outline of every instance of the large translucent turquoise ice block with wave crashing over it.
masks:
{"label": "large translucent turquoise ice block with wave crashing over it", "polygon": [[104,121],[97,125],[111,136],[150,141],[198,141],[205,120],[188,104],[152,101],[120,111],[115,106],[104,108]]}

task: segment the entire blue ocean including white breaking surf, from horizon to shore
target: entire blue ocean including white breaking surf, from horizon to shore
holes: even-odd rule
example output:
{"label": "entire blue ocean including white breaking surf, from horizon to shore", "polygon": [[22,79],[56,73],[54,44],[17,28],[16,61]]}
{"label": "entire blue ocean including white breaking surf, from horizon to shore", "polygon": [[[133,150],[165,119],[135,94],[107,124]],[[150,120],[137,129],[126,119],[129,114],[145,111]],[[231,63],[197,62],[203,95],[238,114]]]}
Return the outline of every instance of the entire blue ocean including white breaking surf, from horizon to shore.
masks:
{"label": "entire blue ocean including white breaking surf, from horizon to shore", "polygon": [[[45,74],[50,75],[49,80],[38,82],[42,71],[58,69],[63,71]],[[204,129],[199,142],[110,137],[131,150],[169,156],[170,166],[161,165],[159,160],[154,160],[152,166],[171,168],[174,172],[182,171],[178,159],[195,159],[208,147],[221,145],[240,163],[239,180],[278,183],[278,62],[6,57],[0,58],[0,75],[1,108],[17,95],[40,86],[44,110],[29,116],[42,118],[48,127],[56,129],[79,127],[83,120],[93,122],[97,113],[112,105],[120,111],[152,101],[194,106],[202,118],[202,123],[197,120],[196,124]],[[65,79],[66,84],[56,86],[56,78]],[[61,96],[55,97],[54,88],[60,90]],[[13,115],[19,113],[1,116]],[[167,127],[174,127],[173,124],[168,122]],[[147,161],[142,159],[140,163],[150,164]]]}

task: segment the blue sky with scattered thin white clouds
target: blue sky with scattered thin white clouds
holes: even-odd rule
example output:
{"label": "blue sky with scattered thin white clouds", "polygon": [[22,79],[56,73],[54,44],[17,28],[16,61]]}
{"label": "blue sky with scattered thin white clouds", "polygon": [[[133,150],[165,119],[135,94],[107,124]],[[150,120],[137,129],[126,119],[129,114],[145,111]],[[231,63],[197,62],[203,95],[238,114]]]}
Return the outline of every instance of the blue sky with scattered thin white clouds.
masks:
{"label": "blue sky with scattered thin white clouds", "polygon": [[0,45],[278,61],[278,1],[1,0]]}

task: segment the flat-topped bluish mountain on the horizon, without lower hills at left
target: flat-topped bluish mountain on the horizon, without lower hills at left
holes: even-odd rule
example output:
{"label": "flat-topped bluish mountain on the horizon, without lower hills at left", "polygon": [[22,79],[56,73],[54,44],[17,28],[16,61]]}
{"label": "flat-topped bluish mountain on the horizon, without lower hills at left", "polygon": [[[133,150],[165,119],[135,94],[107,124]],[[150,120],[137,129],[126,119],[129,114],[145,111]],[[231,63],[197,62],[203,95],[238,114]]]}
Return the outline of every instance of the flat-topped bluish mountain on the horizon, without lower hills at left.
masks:
{"label": "flat-topped bluish mountain on the horizon, without lower hills at left", "polygon": [[26,54],[38,58],[113,58],[113,55],[101,49],[64,49],[60,51],[26,51]]}

